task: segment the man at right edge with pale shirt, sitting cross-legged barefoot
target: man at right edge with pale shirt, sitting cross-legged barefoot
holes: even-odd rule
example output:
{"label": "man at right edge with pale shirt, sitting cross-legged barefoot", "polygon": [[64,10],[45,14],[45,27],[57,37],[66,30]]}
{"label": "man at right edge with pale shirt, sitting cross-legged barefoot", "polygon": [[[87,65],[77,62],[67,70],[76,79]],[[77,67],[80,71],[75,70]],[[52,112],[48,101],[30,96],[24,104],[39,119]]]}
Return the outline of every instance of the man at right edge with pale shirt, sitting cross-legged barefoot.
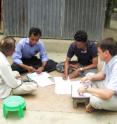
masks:
{"label": "man at right edge with pale shirt, sitting cross-legged barefoot", "polygon": [[105,62],[104,67],[97,74],[82,78],[82,82],[93,81],[93,87],[82,87],[78,92],[92,94],[87,112],[94,109],[117,111],[117,42],[113,38],[99,42],[98,55]]}

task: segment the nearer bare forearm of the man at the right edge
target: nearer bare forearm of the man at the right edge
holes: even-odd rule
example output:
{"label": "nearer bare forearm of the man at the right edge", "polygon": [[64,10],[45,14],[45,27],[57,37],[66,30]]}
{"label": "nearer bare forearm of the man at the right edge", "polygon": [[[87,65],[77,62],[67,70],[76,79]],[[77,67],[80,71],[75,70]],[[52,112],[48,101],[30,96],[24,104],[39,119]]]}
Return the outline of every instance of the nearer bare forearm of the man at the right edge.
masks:
{"label": "nearer bare forearm of the man at the right edge", "polygon": [[80,93],[90,93],[104,100],[110,99],[115,92],[111,89],[98,89],[98,88],[80,88]]}

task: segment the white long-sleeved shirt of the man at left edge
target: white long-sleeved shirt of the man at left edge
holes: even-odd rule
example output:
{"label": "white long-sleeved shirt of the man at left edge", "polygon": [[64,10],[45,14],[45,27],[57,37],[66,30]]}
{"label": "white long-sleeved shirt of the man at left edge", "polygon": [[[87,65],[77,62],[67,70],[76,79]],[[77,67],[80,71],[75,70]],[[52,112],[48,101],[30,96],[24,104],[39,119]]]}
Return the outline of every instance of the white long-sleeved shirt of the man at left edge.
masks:
{"label": "white long-sleeved shirt of the man at left edge", "polygon": [[9,96],[12,88],[16,88],[20,84],[21,80],[15,79],[7,58],[0,52],[0,98]]}

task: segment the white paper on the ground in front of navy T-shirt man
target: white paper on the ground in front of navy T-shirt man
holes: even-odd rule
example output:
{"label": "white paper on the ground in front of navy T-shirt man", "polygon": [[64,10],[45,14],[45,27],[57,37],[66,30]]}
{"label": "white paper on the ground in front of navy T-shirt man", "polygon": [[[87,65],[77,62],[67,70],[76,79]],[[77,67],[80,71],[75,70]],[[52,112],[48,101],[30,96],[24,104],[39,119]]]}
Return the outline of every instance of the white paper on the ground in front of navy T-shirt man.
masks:
{"label": "white paper on the ground in front of navy T-shirt man", "polygon": [[62,77],[54,77],[56,94],[71,94],[71,81]]}

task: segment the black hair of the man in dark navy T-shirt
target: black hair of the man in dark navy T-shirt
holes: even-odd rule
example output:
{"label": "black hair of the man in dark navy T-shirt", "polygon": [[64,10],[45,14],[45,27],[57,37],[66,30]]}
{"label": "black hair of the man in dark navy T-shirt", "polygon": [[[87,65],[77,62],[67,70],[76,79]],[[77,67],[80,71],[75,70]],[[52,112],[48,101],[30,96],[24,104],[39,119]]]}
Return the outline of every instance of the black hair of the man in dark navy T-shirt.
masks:
{"label": "black hair of the man in dark navy T-shirt", "polygon": [[79,42],[87,42],[88,36],[85,31],[79,30],[74,35],[74,40]]}

